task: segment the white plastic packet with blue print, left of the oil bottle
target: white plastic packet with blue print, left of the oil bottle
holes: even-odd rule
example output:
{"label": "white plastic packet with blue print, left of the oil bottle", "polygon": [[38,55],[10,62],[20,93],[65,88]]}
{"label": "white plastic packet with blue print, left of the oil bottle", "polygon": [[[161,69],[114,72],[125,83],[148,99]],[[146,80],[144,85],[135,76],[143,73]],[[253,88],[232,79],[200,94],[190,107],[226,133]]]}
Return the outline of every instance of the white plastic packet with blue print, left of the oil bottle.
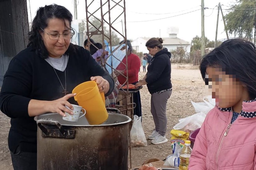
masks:
{"label": "white plastic packet with blue print, left of the oil bottle", "polygon": [[169,167],[179,167],[179,153],[181,151],[181,147],[178,143],[174,143],[173,154],[169,155],[164,161],[164,166]]}

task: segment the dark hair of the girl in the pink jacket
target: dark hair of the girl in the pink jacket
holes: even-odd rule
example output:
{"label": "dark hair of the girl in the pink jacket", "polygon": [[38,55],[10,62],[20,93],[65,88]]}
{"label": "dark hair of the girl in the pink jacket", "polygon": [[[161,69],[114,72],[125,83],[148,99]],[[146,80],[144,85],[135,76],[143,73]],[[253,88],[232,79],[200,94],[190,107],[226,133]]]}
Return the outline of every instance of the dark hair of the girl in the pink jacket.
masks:
{"label": "dark hair of the girl in the pink jacket", "polygon": [[253,43],[243,39],[226,40],[204,56],[199,68],[206,85],[205,74],[209,66],[233,75],[246,85],[251,100],[256,97],[256,47]]}

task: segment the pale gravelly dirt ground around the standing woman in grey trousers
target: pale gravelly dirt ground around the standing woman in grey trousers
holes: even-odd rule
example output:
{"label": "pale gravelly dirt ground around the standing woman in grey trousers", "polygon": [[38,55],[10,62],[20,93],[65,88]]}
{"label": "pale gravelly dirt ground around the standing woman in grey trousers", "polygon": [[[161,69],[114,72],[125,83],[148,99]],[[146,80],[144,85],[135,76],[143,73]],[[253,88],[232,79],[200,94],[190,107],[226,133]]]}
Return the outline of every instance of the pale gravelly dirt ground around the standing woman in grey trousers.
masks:
{"label": "pale gravelly dirt ground around the standing woman in grey trousers", "polygon": [[[139,72],[139,78],[144,77],[145,72],[142,72],[142,67]],[[191,101],[202,102],[205,96],[204,82],[201,78],[198,66],[191,65],[177,65],[172,64],[172,84],[173,93],[167,104],[167,133],[166,137],[171,138],[170,131],[173,126],[178,123],[178,120],[185,118],[195,113]],[[150,112],[150,93],[147,87],[144,86],[140,90],[141,104],[142,104],[142,126],[145,135],[151,134],[154,129],[154,122]],[[0,112],[0,169],[12,170],[12,161],[8,149],[8,132],[10,128],[10,118]],[[165,159],[171,154],[171,142],[154,145],[150,140],[147,140],[146,147],[133,147],[132,167],[142,165],[142,163],[150,158]]]}

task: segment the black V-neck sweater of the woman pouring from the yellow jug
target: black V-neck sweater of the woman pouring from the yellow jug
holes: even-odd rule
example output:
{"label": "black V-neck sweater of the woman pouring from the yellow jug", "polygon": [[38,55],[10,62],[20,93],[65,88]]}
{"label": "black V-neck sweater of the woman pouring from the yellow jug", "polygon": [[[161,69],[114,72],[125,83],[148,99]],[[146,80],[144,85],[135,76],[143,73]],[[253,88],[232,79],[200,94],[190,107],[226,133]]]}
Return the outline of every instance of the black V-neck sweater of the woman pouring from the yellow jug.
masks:
{"label": "black V-neck sweater of the woman pouring from the yellow jug", "polygon": [[[102,76],[110,84],[109,95],[114,88],[114,81],[83,47],[70,44],[69,60],[66,66],[66,88],[72,92],[78,84],[90,81],[92,76]],[[65,88],[65,72],[56,70]],[[37,151],[37,124],[34,117],[28,115],[31,99],[56,100],[64,96],[63,88],[52,66],[36,55],[28,47],[15,56],[9,64],[0,92],[0,109],[11,118],[9,131],[9,149],[15,151]],[[74,98],[68,100],[77,104]]]}

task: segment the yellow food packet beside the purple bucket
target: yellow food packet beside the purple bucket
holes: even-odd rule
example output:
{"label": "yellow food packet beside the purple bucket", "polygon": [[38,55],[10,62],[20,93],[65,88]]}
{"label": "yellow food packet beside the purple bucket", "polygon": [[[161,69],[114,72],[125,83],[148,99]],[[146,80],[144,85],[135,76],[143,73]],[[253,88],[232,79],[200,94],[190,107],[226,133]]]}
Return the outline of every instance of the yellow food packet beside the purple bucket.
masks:
{"label": "yellow food packet beside the purple bucket", "polygon": [[188,139],[189,137],[189,133],[188,132],[184,132],[182,130],[171,130],[171,146],[172,146],[172,150],[174,147],[174,143],[177,143],[180,145],[181,148],[183,148],[185,140]]}

